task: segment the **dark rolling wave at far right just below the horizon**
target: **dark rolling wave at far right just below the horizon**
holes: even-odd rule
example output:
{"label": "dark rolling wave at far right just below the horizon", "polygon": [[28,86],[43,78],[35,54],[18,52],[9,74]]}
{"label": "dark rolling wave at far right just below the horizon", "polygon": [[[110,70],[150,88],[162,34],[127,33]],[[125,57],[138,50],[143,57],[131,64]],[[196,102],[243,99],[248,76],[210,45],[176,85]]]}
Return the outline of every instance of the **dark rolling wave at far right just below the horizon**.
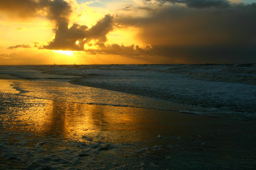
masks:
{"label": "dark rolling wave at far right just below the horizon", "polygon": [[[245,67],[246,66],[246,67]],[[192,79],[256,85],[255,64],[248,65],[178,65],[164,71],[188,75]]]}

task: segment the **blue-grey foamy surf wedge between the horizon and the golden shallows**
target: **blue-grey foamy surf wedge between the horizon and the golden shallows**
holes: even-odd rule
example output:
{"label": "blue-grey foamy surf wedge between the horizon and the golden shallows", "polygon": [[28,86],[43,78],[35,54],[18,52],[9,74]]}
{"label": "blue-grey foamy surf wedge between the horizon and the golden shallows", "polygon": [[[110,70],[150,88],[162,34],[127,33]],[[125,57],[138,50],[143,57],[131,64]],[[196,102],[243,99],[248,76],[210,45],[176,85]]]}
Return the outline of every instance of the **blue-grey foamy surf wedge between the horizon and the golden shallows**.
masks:
{"label": "blue-grey foamy surf wedge between the horizon and the golden shallows", "polygon": [[95,76],[71,83],[199,106],[190,111],[201,115],[255,118],[252,65],[104,65],[84,66],[83,71]]}

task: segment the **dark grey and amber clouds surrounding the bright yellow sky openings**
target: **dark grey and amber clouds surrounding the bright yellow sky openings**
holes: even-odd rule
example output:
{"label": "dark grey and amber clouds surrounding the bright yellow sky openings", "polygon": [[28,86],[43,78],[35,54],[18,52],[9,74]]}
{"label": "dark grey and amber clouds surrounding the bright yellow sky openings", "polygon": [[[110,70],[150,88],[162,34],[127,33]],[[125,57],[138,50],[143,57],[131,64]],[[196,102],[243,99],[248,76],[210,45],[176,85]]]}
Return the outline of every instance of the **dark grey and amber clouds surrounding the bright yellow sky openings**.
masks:
{"label": "dark grey and amber clouds surrounding the bright yellow sky openings", "polygon": [[[72,24],[71,4],[64,0],[0,1],[12,18],[45,17],[56,24],[55,37],[39,49],[86,51],[90,54],[164,57],[169,63],[256,62],[256,3],[227,0],[142,0],[106,14],[92,27]],[[144,15],[140,16],[140,13]],[[146,45],[107,44],[108,35],[123,27],[138,28]],[[88,48],[85,48],[88,47]],[[97,48],[90,48],[97,47]],[[27,48],[26,44],[8,49]],[[160,63],[160,61],[157,61]]]}

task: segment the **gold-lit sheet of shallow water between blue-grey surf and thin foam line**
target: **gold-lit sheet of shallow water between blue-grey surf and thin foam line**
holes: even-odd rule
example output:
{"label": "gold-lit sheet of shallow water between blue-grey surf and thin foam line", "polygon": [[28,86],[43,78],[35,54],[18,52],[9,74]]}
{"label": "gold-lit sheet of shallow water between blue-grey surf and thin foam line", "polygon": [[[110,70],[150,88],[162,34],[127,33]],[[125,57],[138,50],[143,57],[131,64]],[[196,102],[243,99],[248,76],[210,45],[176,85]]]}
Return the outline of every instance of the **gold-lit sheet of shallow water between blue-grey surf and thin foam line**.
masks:
{"label": "gold-lit sheet of shallow water between blue-grey surf and thin foam line", "polygon": [[54,101],[73,102],[78,104],[97,104],[112,106],[131,106],[179,111],[179,106],[170,101],[145,96],[127,94],[112,90],[99,89],[81,85],[73,85],[61,81],[49,80],[17,80],[13,87],[21,91],[20,95],[48,99]]}

